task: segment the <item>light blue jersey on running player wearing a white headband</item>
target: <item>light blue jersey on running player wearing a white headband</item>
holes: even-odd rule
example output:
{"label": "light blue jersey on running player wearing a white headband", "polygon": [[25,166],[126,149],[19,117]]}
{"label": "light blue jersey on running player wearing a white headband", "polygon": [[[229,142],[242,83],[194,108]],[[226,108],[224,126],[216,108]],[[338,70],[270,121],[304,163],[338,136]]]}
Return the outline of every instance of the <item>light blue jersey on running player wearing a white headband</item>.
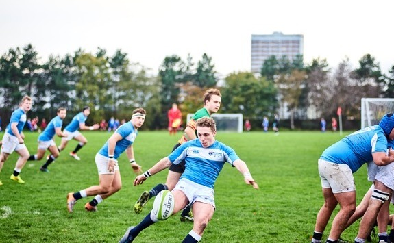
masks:
{"label": "light blue jersey on running player wearing a white headband", "polygon": [[[123,153],[128,146],[132,145],[134,140],[136,140],[138,130],[134,128],[134,125],[130,121],[121,125],[115,132],[122,136],[122,139],[116,142],[115,146],[114,159],[117,159],[119,155],[121,155],[121,153]],[[108,141],[100,149],[99,154],[108,157]]]}

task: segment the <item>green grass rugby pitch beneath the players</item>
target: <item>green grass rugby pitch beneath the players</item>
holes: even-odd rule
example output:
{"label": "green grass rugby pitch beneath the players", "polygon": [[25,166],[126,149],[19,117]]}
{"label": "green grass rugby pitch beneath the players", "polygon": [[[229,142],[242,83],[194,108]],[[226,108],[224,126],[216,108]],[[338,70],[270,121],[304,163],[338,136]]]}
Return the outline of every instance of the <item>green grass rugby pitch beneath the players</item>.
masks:
{"label": "green grass rugby pitch beneath the players", "polygon": [[[25,135],[30,153],[36,153],[38,133]],[[69,156],[77,144],[71,141],[56,163],[49,166],[49,173],[39,171],[44,159],[27,162],[21,172],[24,185],[10,180],[16,154],[5,162],[0,174],[4,184],[0,186],[0,242],[118,242],[127,227],[149,213],[152,202],[142,214],[134,214],[133,205],[141,192],[164,183],[167,171],[134,187],[135,175],[125,155],[119,159],[121,191],[99,204],[98,212],[85,212],[84,204],[91,198],[79,200],[73,214],[67,212],[68,192],[98,183],[94,157],[110,133],[84,135],[89,142],[78,153],[81,161]],[[134,143],[138,164],[143,170],[156,164],[169,154],[178,136],[180,133],[170,137],[164,131],[141,131]],[[323,204],[317,159],[339,139],[338,133],[330,132],[281,132],[279,136],[219,133],[217,140],[232,146],[247,162],[260,190],[245,185],[243,176],[225,165],[215,185],[217,209],[201,242],[310,242]],[[370,186],[365,166],[354,177],[359,202]],[[134,242],[181,242],[191,228],[190,222],[180,222],[176,215],[149,227]],[[325,237],[330,228],[328,225]],[[352,242],[357,231],[358,222],[343,233],[343,238]]]}

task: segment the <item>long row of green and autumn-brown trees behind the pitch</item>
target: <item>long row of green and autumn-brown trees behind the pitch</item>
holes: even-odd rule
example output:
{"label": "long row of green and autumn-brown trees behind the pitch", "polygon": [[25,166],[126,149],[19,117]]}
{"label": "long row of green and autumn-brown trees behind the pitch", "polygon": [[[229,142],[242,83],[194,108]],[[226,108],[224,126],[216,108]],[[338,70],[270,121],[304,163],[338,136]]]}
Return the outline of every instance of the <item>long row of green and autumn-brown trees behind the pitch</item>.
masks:
{"label": "long row of green and autumn-brown trees behind the pitch", "polygon": [[295,60],[272,56],[260,74],[234,71],[224,80],[207,54],[197,64],[190,55],[186,60],[171,55],[164,57],[158,74],[153,73],[131,62],[121,49],[113,55],[101,48],[96,53],[79,49],[64,56],[50,55],[44,64],[32,44],[9,49],[0,57],[0,117],[6,125],[27,94],[33,99],[29,117],[48,120],[59,107],[65,107],[64,123],[68,123],[88,105],[92,112],[87,123],[99,123],[111,116],[128,120],[135,107],[144,107],[144,129],[163,129],[172,103],[180,105],[186,118],[203,105],[205,90],[220,86],[221,113],[242,113],[244,118],[261,121],[286,107],[294,128],[294,120],[306,119],[308,109],[317,116],[333,116],[341,106],[344,116],[359,118],[362,97],[394,94],[394,66],[386,75],[369,54],[355,69],[345,59],[333,70],[325,59],[304,64],[301,55]]}

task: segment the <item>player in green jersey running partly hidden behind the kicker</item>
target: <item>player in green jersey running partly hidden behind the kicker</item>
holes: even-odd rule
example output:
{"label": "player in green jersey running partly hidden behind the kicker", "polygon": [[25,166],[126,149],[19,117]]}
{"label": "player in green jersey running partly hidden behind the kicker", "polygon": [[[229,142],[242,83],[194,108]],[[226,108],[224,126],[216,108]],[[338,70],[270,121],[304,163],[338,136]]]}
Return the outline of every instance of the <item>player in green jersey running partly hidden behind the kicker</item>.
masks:
{"label": "player in green jersey running partly hidden behind the kicker", "polygon": [[[173,151],[177,147],[181,146],[186,141],[193,140],[197,138],[197,125],[196,121],[202,117],[210,117],[212,114],[216,113],[221,105],[221,93],[219,90],[211,88],[207,90],[204,94],[204,107],[195,112],[193,118],[188,122],[184,130],[182,138],[175,144]],[[140,195],[140,198],[134,205],[134,212],[140,214],[143,211],[143,207],[147,204],[149,199],[156,196],[162,190],[173,190],[176,183],[179,181],[182,173],[185,171],[185,161],[182,160],[180,164],[173,164],[169,168],[169,173],[167,175],[167,181],[165,184],[158,184],[153,187],[149,192],[145,191]],[[193,221],[193,216],[190,214],[190,205],[184,209],[181,214],[180,220]]]}

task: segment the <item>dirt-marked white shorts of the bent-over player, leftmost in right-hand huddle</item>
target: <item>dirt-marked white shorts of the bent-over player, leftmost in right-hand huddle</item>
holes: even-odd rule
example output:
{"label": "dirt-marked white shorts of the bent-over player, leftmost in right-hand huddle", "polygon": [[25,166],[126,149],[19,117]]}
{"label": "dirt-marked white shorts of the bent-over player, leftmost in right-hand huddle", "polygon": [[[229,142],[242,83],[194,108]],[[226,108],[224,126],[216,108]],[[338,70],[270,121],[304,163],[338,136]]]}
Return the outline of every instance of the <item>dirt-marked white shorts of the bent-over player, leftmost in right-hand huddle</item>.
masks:
{"label": "dirt-marked white shorts of the bent-over player, leftmost in right-hand huddle", "polygon": [[319,175],[322,188],[331,188],[333,193],[356,190],[352,170],[347,164],[335,164],[319,159]]}

